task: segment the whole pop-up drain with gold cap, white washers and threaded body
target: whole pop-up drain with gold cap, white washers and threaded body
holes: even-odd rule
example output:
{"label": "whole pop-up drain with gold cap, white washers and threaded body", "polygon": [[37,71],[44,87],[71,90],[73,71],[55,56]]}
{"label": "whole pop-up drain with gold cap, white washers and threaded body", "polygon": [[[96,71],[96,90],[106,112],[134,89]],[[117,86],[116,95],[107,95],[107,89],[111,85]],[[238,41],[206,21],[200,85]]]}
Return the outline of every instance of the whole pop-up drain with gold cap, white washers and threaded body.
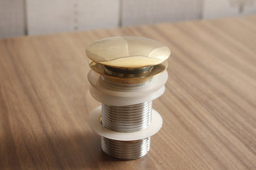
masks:
{"label": "whole pop-up drain with gold cap, white washers and threaded body", "polygon": [[102,102],[89,124],[102,136],[103,152],[124,160],[146,155],[162,126],[152,101],[165,90],[169,48],[144,37],[110,37],[90,44],[86,55],[90,93]]}

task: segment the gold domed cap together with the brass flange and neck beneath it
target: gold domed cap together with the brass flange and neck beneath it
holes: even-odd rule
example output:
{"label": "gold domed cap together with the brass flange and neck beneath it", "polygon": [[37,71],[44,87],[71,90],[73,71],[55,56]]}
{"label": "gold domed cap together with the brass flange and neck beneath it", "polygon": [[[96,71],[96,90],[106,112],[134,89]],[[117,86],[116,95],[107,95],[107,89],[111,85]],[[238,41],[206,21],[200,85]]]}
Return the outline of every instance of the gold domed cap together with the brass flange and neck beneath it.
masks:
{"label": "gold domed cap together with the brass flange and neck beneath it", "polygon": [[109,37],[86,49],[92,70],[114,83],[135,84],[150,80],[167,68],[169,48],[144,37]]}

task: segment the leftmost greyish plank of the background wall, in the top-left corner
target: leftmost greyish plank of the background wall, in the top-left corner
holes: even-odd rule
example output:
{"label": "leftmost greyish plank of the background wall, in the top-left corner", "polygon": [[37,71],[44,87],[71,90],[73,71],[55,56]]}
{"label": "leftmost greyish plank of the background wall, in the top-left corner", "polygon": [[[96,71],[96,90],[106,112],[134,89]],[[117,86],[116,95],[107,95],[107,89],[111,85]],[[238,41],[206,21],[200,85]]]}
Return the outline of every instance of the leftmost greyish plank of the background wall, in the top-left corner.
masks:
{"label": "leftmost greyish plank of the background wall, in the top-left corner", "polygon": [[23,0],[0,1],[0,37],[24,35],[25,25]]}

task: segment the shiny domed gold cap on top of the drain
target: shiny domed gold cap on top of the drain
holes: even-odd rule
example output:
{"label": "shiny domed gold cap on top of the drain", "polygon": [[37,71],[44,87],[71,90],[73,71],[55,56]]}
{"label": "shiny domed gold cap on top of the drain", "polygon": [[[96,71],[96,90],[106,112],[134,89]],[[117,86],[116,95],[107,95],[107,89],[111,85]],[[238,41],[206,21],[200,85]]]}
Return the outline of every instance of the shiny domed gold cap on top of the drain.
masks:
{"label": "shiny domed gold cap on top of the drain", "polygon": [[110,37],[90,44],[90,60],[116,68],[142,68],[167,60],[169,48],[161,42],[143,37]]}

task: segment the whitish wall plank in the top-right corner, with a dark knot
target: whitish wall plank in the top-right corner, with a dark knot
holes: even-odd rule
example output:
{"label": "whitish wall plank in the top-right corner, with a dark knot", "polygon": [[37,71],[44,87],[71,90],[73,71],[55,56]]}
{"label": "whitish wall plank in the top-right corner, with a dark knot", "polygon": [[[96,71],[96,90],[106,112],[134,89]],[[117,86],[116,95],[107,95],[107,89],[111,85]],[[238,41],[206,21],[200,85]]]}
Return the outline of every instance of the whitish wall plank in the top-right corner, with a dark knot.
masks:
{"label": "whitish wall plank in the top-right corner, with a dark knot", "polygon": [[256,14],[256,1],[206,0],[202,10],[203,18],[223,18]]}

